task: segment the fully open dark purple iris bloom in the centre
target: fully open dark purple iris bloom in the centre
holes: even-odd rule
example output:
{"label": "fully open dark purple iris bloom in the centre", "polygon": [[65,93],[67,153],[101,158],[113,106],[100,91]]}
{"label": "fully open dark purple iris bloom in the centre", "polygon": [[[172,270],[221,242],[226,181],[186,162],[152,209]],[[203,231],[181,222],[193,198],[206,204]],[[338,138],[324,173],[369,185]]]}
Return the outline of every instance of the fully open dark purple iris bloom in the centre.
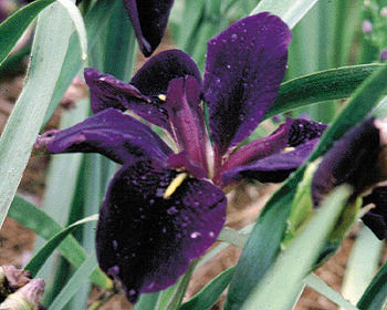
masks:
{"label": "fully open dark purple iris bloom in the centre", "polygon": [[[94,116],[39,138],[51,153],[97,152],[123,165],[100,211],[96,247],[101,268],[132,302],[176,282],[216,240],[223,188],[245,178],[281,182],[316,145],[325,125],[287,118],[237,148],[274,102],[290,41],[285,23],[260,13],[209,41],[203,82],[178,50],[151,58],[129,83],[86,69]],[[126,110],[165,130],[174,149]]]}

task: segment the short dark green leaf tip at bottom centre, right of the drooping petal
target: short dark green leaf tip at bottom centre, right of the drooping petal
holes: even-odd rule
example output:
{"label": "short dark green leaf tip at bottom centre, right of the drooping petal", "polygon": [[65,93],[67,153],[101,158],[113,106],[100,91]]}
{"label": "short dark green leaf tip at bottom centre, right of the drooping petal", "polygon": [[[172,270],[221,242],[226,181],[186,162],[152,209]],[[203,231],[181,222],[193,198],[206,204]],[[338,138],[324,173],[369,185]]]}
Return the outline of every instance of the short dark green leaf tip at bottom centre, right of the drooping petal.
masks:
{"label": "short dark green leaf tip at bottom centre, right of the drooping petal", "polygon": [[233,275],[233,267],[224,270],[211,282],[203,287],[195,297],[182,303],[179,310],[206,310],[211,309],[219,296],[226,290]]}

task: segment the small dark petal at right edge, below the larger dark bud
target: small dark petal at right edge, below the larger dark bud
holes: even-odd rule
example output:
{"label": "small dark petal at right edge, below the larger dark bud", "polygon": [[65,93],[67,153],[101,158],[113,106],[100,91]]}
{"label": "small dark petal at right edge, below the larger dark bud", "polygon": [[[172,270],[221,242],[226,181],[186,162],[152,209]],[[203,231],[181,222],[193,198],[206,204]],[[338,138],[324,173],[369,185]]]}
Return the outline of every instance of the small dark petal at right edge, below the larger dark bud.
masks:
{"label": "small dark petal at right edge, below the larger dark bud", "polygon": [[366,213],[362,220],[380,240],[387,236],[387,186],[378,186],[363,198],[363,206],[374,204],[375,208]]}

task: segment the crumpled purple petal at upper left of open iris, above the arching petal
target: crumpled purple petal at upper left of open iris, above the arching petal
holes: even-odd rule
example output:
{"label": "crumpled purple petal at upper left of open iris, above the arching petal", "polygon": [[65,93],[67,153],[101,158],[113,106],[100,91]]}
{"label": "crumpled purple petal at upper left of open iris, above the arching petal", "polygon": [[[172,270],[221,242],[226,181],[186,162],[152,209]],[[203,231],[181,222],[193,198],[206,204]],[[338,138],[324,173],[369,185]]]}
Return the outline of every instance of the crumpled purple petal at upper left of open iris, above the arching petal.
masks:
{"label": "crumpled purple petal at upper left of open iris, above the arching petal", "polygon": [[134,85],[111,74],[102,74],[95,68],[85,69],[85,80],[91,90],[94,113],[108,107],[121,111],[132,110],[144,120],[170,131],[167,112],[158,99],[144,95]]}

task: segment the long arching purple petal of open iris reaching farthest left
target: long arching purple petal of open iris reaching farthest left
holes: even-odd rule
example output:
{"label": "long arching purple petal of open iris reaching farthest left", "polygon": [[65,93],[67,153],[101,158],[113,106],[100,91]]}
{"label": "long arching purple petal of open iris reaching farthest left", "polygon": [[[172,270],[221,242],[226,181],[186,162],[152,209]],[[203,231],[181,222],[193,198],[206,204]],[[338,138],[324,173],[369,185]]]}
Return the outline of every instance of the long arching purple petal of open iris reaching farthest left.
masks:
{"label": "long arching purple petal of open iris reaching farthest left", "polygon": [[101,153],[119,164],[137,158],[163,163],[172,153],[149,126],[113,107],[64,131],[44,133],[36,146],[51,153]]}

